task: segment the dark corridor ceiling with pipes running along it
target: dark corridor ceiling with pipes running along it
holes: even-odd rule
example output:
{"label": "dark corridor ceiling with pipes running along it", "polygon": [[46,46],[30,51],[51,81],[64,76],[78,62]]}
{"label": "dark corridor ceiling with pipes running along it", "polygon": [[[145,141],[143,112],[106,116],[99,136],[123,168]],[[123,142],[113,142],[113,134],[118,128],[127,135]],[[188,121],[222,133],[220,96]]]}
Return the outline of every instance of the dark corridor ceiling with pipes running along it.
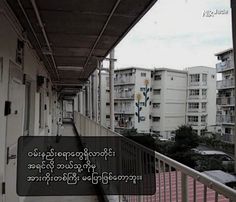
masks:
{"label": "dark corridor ceiling with pipes running along it", "polygon": [[97,59],[106,57],[155,2],[7,0],[52,81],[60,85],[86,81]]}

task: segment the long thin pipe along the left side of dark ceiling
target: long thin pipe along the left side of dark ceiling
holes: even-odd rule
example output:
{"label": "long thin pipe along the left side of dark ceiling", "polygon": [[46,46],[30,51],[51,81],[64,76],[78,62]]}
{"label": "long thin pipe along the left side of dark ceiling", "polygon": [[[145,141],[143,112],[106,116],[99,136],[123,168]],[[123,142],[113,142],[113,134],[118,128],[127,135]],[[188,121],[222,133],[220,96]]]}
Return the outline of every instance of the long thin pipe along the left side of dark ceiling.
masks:
{"label": "long thin pipe along the left side of dark ceiling", "polygon": [[59,78],[59,73],[58,73],[58,71],[57,71],[57,65],[56,65],[56,62],[55,62],[54,57],[53,57],[53,55],[52,55],[52,49],[51,49],[51,46],[50,46],[50,43],[49,43],[49,40],[48,40],[46,31],[45,31],[45,29],[44,29],[43,22],[42,22],[42,20],[41,20],[40,15],[39,15],[38,7],[37,7],[37,5],[36,5],[35,0],[31,0],[31,4],[32,4],[32,6],[33,6],[33,8],[34,8],[34,12],[35,12],[36,17],[37,17],[37,20],[38,20],[38,22],[39,22],[39,26],[40,26],[41,31],[42,31],[42,33],[43,33],[43,36],[44,36],[44,39],[45,39],[45,41],[46,41],[48,50],[49,50],[49,52],[51,53],[50,56],[51,56],[51,59],[52,59],[54,68],[55,68],[55,70],[56,70],[57,77]]}

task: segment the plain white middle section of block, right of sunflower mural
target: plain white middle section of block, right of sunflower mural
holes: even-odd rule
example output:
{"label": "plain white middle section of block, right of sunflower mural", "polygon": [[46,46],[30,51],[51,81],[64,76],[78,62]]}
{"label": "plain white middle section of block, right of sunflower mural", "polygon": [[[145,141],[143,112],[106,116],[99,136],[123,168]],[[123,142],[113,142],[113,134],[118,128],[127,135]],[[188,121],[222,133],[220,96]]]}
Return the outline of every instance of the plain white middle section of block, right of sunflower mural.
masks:
{"label": "plain white middle section of block, right of sunflower mural", "polygon": [[152,72],[151,132],[168,139],[185,124],[187,71],[158,68]]}

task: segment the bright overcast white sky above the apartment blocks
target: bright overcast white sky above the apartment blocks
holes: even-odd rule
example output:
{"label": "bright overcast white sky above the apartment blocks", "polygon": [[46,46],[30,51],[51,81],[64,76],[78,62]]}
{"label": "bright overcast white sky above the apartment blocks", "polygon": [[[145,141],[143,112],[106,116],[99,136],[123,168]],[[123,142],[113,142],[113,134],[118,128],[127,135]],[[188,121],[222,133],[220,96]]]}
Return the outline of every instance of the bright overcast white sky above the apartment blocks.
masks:
{"label": "bright overcast white sky above the apartment blocks", "polygon": [[[228,14],[203,16],[216,9]],[[230,0],[159,0],[116,47],[116,68],[215,67],[231,30]]]}

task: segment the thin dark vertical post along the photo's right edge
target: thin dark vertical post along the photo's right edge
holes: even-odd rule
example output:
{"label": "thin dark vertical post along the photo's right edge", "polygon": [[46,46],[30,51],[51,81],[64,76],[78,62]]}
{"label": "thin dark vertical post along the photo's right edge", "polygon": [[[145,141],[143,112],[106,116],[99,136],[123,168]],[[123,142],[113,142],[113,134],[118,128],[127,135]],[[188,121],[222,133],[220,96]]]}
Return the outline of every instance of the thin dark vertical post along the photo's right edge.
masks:
{"label": "thin dark vertical post along the photo's right edge", "polygon": [[[231,0],[231,9],[232,9],[232,31],[233,31],[233,50],[234,50],[234,78],[236,78],[236,2],[235,0]],[[236,82],[234,84],[234,94],[236,96]],[[234,106],[234,117],[236,117],[236,102]],[[234,145],[236,145],[236,119],[234,119]],[[236,146],[234,147],[234,156],[236,159]],[[234,172],[236,172],[236,161],[234,161]]]}

